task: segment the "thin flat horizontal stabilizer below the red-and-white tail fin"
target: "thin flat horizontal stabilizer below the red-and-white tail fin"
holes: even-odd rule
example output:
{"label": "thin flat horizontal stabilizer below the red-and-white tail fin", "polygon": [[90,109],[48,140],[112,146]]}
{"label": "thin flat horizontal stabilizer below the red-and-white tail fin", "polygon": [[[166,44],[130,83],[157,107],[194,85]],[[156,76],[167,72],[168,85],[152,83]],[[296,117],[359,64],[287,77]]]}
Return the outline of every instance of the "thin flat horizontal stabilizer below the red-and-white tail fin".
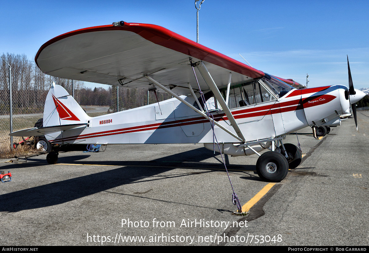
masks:
{"label": "thin flat horizontal stabilizer below the red-and-white tail fin", "polygon": [[39,136],[39,135],[47,135],[55,132],[61,132],[65,130],[86,127],[86,123],[84,124],[70,124],[70,125],[61,125],[61,126],[50,126],[50,127],[32,127],[28,129],[23,129],[19,131],[15,131],[10,133],[10,136]]}

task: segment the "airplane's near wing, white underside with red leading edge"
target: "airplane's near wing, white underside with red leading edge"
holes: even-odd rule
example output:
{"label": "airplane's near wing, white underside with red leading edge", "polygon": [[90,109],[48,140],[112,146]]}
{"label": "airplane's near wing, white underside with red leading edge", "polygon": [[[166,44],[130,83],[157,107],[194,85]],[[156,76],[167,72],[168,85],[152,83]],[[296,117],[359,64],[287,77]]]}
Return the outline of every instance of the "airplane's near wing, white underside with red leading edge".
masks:
{"label": "airplane's near wing, white underside with red leading edge", "polygon": [[[59,35],[41,46],[35,62],[42,72],[67,79],[155,88],[145,75],[178,95],[198,89],[190,59],[205,63],[216,85],[263,77],[264,73],[166,28],[126,23],[89,27]],[[198,78],[201,90],[209,87]]]}

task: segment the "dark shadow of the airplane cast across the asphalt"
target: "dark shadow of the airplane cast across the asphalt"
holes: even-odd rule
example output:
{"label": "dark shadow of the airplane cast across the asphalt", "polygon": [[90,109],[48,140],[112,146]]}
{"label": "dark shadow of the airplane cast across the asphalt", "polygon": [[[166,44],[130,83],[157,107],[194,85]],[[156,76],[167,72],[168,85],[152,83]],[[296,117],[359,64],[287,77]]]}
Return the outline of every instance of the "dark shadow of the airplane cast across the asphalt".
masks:
{"label": "dark shadow of the airplane cast across the asphalt", "polygon": [[[18,212],[26,209],[42,208],[52,205],[62,204],[88,195],[107,191],[111,188],[131,184],[137,180],[142,182],[142,179],[162,180],[162,177],[152,177],[157,174],[170,171],[175,168],[191,168],[208,170],[201,173],[210,173],[214,170],[224,170],[222,163],[201,162],[210,157],[214,157],[213,152],[205,148],[189,150],[175,155],[161,157],[151,161],[83,161],[89,155],[77,155],[68,157],[59,157],[58,163],[73,163],[73,164],[99,164],[99,165],[116,165],[123,166],[111,170],[106,170],[98,173],[92,173],[85,176],[75,177],[73,179],[62,180],[51,184],[27,188],[24,190],[14,191],[12,193],[2,194],[0,212]],[[201,155],[199,153],[201,152]],[[198,159],[196,159],[198,157]],[[10,164],[1,167],[1,170],[13,169],[17,167],[38,167],[40,163],[45,163],[42,159],[28,159],[30,163]],[[228,159],[226,159],[227,162]],[[168,162],[169,161],[169,162]],[[179,162],[170,162],[179,161]],[[45,163],[45,165],[47,165]],[[63,165],[61,165],[63,166]],[[158,166],[158,167],[156,167]],[[245,179],[260,180],[252,171],[255,170],[255,165],[227,165],[228,170],[245,170],[242,177]],[[225,172],[224,172],[225,174]],[[191,176],[192,173],[179,173],[171,177]],[[40,175],[42,177],[42,173]],[[225,174],[225,177],[227,175]]]}

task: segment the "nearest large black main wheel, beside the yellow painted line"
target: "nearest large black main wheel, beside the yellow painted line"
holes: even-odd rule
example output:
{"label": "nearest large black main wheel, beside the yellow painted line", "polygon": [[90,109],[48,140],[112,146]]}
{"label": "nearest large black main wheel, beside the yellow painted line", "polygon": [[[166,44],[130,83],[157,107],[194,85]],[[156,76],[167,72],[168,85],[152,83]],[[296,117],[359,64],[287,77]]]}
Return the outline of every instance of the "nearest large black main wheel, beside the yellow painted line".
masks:
{"label": "nearest large black main wheel, beside the yellow painted line", "polygon": [[256,173],[262,180],[280,182],[288,173],[287,159],[278,152],[265,152],[259,156],[256,162]]}

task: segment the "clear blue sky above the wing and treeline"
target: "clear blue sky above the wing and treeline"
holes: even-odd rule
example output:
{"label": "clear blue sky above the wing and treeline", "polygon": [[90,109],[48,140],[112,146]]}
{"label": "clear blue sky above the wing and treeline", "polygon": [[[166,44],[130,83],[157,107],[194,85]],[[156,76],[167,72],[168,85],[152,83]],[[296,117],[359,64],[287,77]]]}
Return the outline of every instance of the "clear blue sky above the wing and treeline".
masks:
{"label": "clear blue sky above the wing and treeline", "polygon": [[[0,53],[33,59],[51,38],[114,21],[161,25],[196,41],[194,0],[2,1]],[[199,43],[308,87],[369,87],[369,1],[205,0]]]}

